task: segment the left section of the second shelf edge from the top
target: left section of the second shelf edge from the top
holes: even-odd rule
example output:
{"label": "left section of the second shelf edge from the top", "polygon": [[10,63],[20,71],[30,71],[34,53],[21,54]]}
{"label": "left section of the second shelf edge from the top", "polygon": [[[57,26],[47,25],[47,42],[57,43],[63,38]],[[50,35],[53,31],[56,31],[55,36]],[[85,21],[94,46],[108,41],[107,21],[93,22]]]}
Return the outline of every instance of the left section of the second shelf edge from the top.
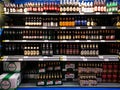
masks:
{"label": "left section of the second shelf edge from the top", "polygon": [[44,27],[44,26],[3,26],[4,29],[59,29],[59,27]]}

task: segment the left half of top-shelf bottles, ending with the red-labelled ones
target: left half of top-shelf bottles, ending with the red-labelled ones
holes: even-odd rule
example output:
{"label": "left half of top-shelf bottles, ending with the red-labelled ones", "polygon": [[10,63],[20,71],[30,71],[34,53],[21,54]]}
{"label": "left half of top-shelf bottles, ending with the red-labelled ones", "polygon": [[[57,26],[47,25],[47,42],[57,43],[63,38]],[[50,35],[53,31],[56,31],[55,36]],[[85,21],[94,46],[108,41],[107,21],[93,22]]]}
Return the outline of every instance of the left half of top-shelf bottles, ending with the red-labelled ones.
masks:
{"label": "left half of top-shelf bottles, ending with the red-labelled ones", "polygon": [[4,12],[59,12],[59,2],[27,2],[25,4],[5,3]]}

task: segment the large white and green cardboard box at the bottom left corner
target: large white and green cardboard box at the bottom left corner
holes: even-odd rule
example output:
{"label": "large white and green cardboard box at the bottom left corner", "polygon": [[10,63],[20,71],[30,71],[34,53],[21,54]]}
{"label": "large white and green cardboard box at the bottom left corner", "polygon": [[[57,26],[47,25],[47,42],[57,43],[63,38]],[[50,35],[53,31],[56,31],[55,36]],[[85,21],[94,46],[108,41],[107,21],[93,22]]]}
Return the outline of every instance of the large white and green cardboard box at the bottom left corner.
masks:
{"label": "large white and green cardboard box at the bottom left corner", "polygon": [[20,73],[5,73],[0,75],[0,90],[16,89],[21,82]]}

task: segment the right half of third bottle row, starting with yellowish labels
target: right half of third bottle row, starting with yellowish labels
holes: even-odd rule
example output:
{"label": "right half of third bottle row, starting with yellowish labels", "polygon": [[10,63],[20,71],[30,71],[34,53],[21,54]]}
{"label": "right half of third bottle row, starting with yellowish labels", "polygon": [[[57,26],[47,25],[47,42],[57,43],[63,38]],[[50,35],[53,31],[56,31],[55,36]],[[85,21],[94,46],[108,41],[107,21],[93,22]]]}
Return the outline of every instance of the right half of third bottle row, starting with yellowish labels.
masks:
{"label": "right half of third bottle row, starting with yellowish labels", "polygon": [[115,40],[116,38],[114,30],[63,30],[57,34],[59,40]]}

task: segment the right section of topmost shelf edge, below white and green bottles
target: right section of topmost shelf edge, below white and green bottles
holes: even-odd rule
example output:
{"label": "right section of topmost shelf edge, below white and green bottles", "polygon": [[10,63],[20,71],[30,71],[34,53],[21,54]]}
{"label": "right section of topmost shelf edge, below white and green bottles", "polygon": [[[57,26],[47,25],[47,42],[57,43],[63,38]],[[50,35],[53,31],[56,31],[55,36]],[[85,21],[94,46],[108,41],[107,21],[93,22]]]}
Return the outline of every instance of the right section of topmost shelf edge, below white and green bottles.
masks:
{"label": "right section of topmost shelf edge, below white and green bottles", "polygon": [[85,12],[85,13],[60,13],[60,15],[119,15],[119,13],[113,12]]}

